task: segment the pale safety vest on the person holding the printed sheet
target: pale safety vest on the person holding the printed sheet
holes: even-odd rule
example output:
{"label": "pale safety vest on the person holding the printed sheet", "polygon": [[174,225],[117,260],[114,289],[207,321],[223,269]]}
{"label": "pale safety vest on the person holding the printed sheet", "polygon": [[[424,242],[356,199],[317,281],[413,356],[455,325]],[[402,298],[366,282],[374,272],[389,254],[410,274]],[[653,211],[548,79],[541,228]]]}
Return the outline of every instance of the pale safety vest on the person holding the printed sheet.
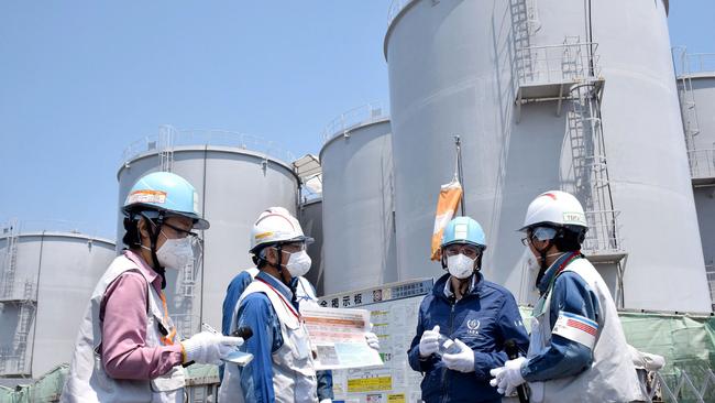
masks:
{"label": "pale safety vest on the person holding the printed sheet", "polygon": [[[268,297],[280,322],[283,346],[272,355],[275,401],[280,403],[317,402],[318,382],[312,363],[308,331],[302,324],[300,314],[295,311],[283,294],[261,279],[253,281],[235,305],[231,318],[231,333],[237,329],[237,316],[241,304],[246,296],[253,293],[263,293]],[[234,363],[227,362],[226,364],[223,380],[219,389],[219,402],[244,402],[241,390],[241,372],[239,366]]]}

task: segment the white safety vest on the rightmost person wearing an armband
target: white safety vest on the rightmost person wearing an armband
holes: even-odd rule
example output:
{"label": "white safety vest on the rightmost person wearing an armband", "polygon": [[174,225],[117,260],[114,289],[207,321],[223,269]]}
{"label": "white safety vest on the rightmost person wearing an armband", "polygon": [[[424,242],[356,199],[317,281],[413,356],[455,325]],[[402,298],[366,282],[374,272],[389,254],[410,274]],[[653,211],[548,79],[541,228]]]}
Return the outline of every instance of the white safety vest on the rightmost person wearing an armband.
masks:
{"label": "white safety vest on the rightmost person wearing an armband", "polygon": [[[636,370],[630,360],[626,337],[618,318],[608,286],[586,259],[575,259],[563,271],[579,274],[596,294],[601,315],[591,368],[576,374],[530,382],[531,401],[540,402],[631,402],[645,401],[638,384]],[[559,275],[558,273],[556,275]],[[543,308],[535,312],[531,341],[527,358],[538,356],[551,344],[551,288],[544,295]]]}

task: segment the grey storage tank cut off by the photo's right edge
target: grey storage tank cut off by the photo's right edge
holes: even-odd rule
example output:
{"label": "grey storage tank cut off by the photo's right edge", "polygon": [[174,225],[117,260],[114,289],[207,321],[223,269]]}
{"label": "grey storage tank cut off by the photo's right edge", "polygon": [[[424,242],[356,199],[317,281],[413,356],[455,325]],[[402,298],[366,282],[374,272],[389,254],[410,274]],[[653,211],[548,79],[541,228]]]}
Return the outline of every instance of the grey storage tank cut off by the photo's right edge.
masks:
{"label": "grey storage tank cut off by the photo's right edge", "polygon": [[676,56],[695,208],[715,306],[715,54]]}

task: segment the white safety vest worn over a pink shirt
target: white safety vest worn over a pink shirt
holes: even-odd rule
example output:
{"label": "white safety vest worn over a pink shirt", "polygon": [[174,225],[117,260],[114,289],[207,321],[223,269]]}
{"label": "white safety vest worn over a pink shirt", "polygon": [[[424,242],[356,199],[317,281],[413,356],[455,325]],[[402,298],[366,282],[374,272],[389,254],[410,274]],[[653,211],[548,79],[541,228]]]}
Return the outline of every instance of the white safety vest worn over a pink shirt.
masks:
{"label": "white safety vest worn over a pink shirt", "polygon": [[128,271],[142,274],[146,281],[148,291],[146,347],[157,347],[173,342],[174,339],[178,340],[176,336],[167,339],[158,330],[158,324],[162,324],[169,331],[169,337],[176,331],[166,313],[163,296],[156,293],[136,263],[123,254],[117,257],[95,287],[85,317],[79,325],[69,375],[61,402],[184,402],[185,374],[182,366],[176,366],[167,373],[146,381],[113,379],[105,372],[101,351],[99,351],[102,342],[99,308],[107,287]]}

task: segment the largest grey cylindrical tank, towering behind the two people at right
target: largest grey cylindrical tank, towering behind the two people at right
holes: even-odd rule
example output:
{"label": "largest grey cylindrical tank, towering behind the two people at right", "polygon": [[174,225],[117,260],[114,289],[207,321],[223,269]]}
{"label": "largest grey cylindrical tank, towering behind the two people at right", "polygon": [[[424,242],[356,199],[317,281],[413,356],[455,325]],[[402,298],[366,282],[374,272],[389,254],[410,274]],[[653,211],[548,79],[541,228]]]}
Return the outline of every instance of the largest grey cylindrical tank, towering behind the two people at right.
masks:
{"label": "largest grey cylindrical tank, towering behind the two people at right", "polygon": [[[429,262],[430,236],[439,186],[454,171],[452,138],[459,134],[466,214],[487,232],[484,272],[519,299],[531,297],[515,230],[536,195],[573,185],[572,107],[564,99],[573,83],[566,69],[593,70],[582,55],[594,54],[601,111],[581,123],[601,131],[607,154],[602,184],[618,215],[617,248],[627,253],[620,261],[624,305],[710,311],[667,1],[403,3],[392,10],[384,42],[399,280],[440,273]],[[597,46],[586,44],[591,35]],[[554,87],[544,83],[554,73],[565,85],[549,96]],[[522,104],[521,96],[539,101]]]}

